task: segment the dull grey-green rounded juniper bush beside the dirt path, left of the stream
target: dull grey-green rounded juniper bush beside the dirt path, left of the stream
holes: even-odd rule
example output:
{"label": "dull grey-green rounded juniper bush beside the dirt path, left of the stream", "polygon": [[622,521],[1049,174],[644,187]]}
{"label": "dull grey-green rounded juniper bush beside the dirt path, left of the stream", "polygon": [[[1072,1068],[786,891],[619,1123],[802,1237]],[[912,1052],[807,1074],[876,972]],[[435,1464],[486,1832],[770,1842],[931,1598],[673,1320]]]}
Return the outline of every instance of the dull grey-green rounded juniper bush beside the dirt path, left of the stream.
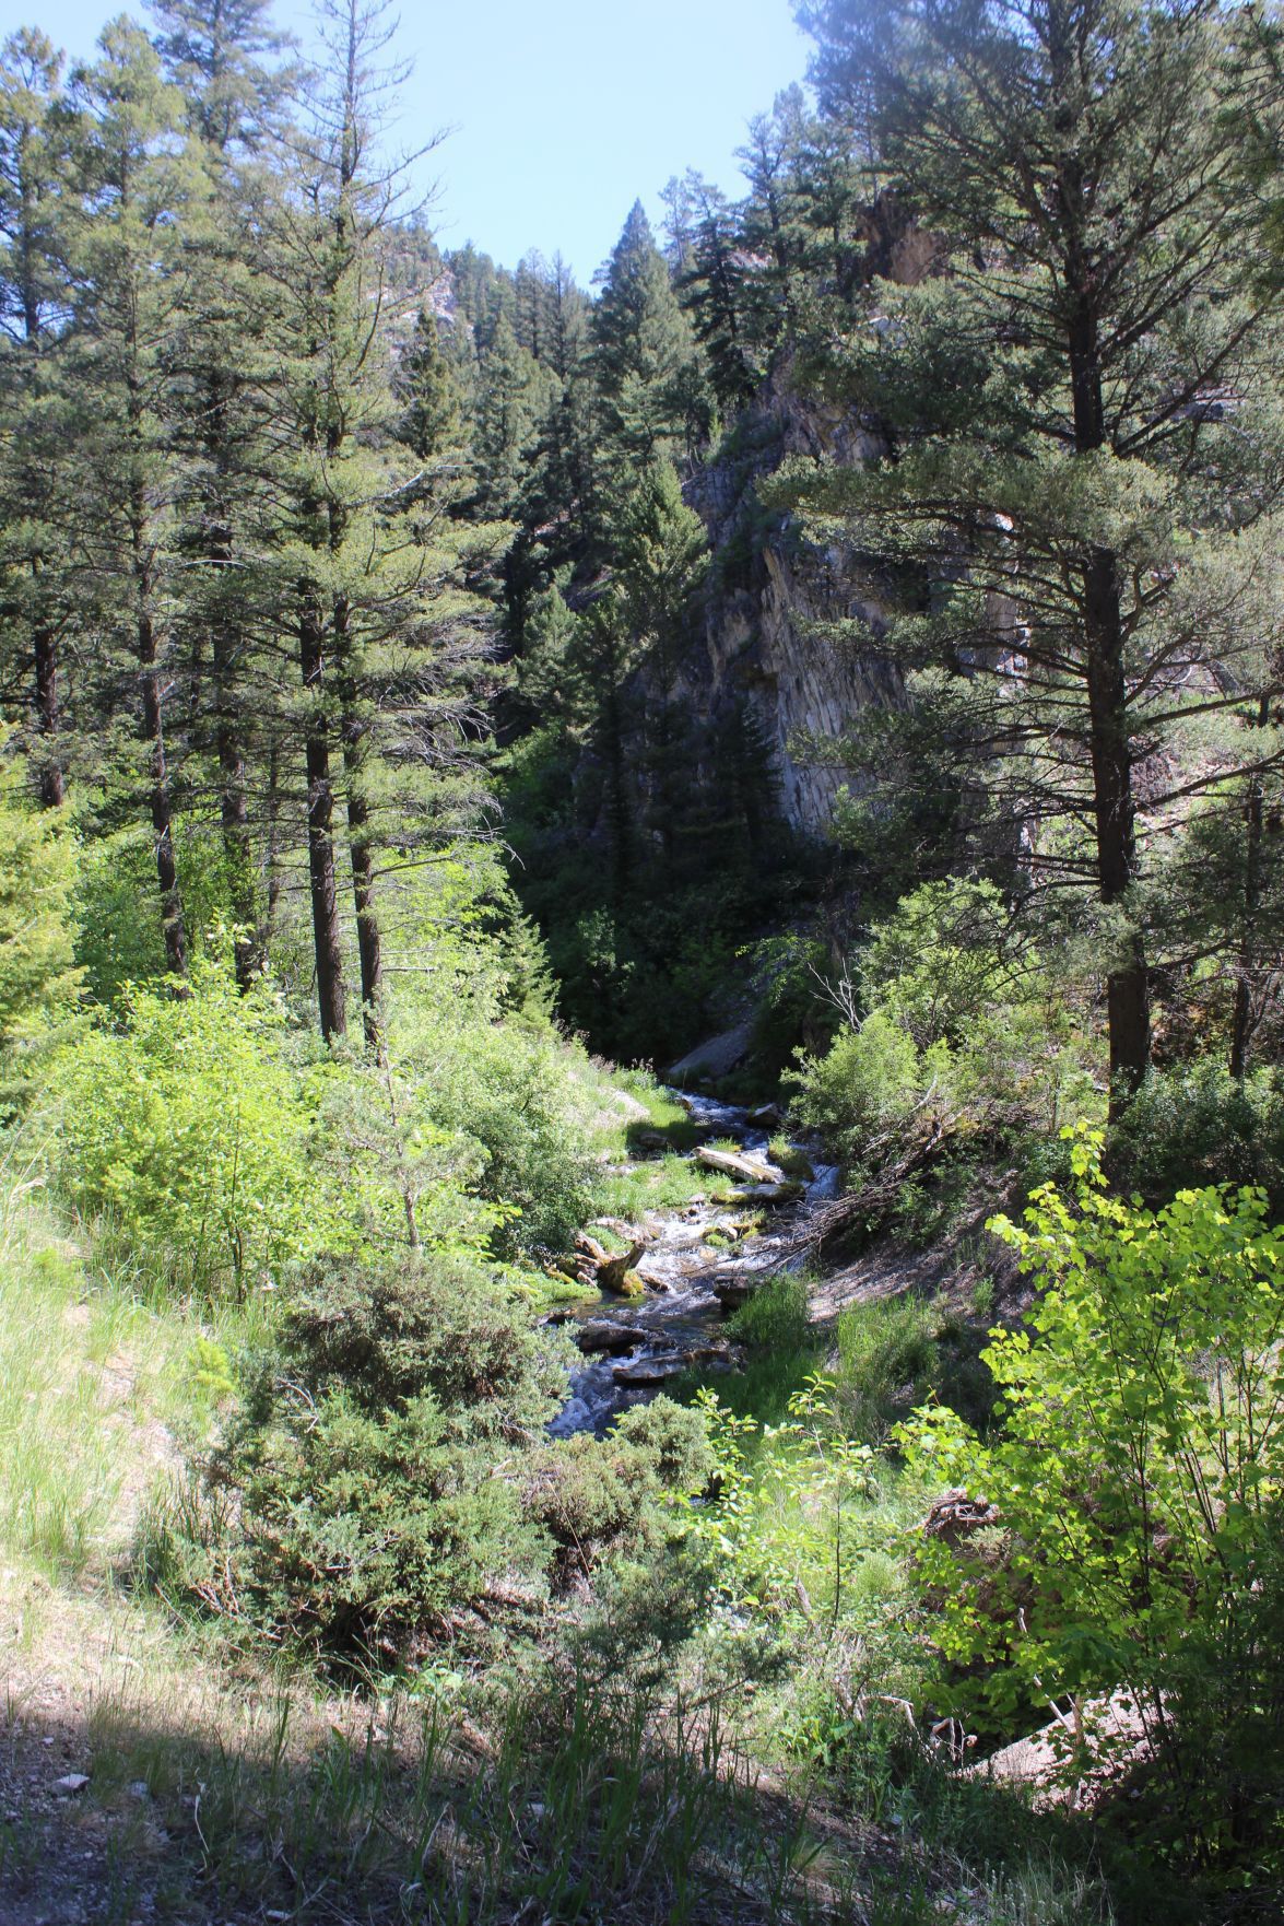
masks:
{"label": "dull grey-green rounded juniper bush beside the dirt path, left of the stream", "polygon": [[466,1258],[318,1262],[208,1464],[200,1595],[321,1654],[412,1649],[539,1570],[514,1466],[564,1383],[558,1340]]}

